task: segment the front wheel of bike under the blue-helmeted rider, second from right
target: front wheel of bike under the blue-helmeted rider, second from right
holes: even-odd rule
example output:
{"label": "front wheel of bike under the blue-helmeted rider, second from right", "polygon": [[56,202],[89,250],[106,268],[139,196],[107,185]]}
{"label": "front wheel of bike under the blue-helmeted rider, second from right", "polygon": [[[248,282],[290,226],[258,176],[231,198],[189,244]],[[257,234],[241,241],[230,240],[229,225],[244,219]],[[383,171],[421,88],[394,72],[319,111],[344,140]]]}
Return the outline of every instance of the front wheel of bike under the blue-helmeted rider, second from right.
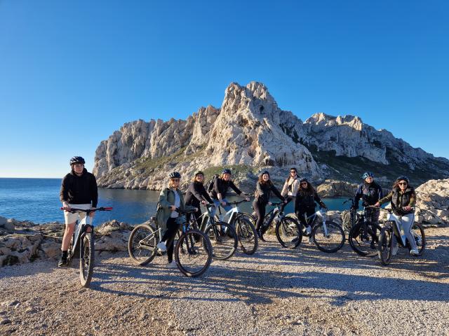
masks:
{"label": "front wheel of bike under the blue-helmeted rider, second from right", "polygon": [[377,254],[377,241],[380,225],[365,224],[358,222],[349,230],[349,246],[358,255],[363,257],[373,257]]}

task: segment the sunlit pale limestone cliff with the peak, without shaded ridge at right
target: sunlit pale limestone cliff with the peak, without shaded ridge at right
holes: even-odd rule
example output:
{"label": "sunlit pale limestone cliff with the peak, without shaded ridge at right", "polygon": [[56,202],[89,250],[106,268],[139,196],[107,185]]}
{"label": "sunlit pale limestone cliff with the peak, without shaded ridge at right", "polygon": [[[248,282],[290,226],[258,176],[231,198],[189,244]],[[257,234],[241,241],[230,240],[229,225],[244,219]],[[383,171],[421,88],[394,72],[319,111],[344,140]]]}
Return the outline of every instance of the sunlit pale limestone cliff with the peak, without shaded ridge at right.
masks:
{"label": "sunlit pale limestone cliff with the peak, without shaded ridge at right", "polygon": [[[232,83],[221,109],[201,108],[187,120],[123,125],[98,146],[93,173],[105,188],[149,190],[166,186],[167,172],[189,178],[203,169],[210,176],[224,166],[234,169],[238,181],[256,179],[265,168],[286,176],[290,166],[318,178],[321,169],[309,150],[288,134],[302,135],[302,122],[293,117],[279,109],[263,84]],[[290,127],[288,132],[280,125]]]}

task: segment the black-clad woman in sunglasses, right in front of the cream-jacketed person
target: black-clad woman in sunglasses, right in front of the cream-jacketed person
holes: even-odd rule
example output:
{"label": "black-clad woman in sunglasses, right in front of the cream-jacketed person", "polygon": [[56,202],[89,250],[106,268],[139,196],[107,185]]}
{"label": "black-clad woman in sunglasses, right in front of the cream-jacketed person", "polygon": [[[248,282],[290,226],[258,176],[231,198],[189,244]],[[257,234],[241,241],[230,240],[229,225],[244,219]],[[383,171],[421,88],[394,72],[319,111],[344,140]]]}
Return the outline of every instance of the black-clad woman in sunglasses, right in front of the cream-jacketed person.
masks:
{"label": "black-clad woman in sunglasses, right in front of the cream-jacketed person", "polygon": [[[300,180],[300,188],[297,190],[296,200],[295,200],[295,214],[297,219],[304,225],[307,231],[307,235],[311,233],[311,226],[307,223],[304,215],[311,216],[314,214],[316,203],[320,205],[320,207],[327,208],[326,204],[321,201],[318,193],[314,186],[307,181],[307,179]],[[309,237],[309,241],[311,241],[311,237]]]}

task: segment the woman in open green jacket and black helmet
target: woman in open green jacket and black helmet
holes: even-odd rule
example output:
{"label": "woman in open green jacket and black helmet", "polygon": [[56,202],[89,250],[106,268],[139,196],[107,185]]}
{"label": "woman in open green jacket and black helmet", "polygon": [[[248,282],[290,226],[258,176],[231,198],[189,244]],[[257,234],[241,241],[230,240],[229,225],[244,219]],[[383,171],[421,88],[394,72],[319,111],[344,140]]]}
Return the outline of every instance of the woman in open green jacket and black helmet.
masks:
{"label": "woman in open green jacket and black helmet", "polygon": [[165,188],[159,194],[159,207],[162,211],[159,212],[157,221],[159,225],[163,226],[166,223],[166,232],[163,234],[161,242],[157,244],[157,248],[161,251],[167,251],[168,265],[169,268],[177,267],[176,262],[173,261],[173,241],[175,240],[176,232],[180,230],[182,223],[177,221],[180,214],[177,213],[176,209],[181,209],[182,211],[188,209],[194,209],[198,211],[195,207],[185,206],[184,197],[182,197],[180,186],[181,174],[178,172],[171,173],[168,178],[168,188]]}

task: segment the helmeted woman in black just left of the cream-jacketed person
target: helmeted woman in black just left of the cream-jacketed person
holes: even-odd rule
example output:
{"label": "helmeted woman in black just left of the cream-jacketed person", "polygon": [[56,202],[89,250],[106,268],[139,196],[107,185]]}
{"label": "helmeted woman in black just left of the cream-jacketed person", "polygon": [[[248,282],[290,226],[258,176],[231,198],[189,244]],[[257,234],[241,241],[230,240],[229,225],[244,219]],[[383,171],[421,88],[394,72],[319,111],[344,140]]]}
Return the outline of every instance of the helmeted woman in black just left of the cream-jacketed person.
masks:
{"label": "helmeted woman in black just left of the cream-jacketed person", "polygon": [[272,196],[272,193],[276,195],[279,200],[287,203],[288,201],[279,193],[279,190],[276,189],[272,180],[269,179],[269,172],[262,172],[259,176],[259,180],[255,186],[255,199],[253,201],[253,209],[257,216],[257,221],[255,222],[255,230],[257,230],[257,235],[259,238],[264,240],[262,236],[262,231],[260,227],[264,221],[265,217],[265,209],[267,204],[272,204],[269,202],[269,198]]}

